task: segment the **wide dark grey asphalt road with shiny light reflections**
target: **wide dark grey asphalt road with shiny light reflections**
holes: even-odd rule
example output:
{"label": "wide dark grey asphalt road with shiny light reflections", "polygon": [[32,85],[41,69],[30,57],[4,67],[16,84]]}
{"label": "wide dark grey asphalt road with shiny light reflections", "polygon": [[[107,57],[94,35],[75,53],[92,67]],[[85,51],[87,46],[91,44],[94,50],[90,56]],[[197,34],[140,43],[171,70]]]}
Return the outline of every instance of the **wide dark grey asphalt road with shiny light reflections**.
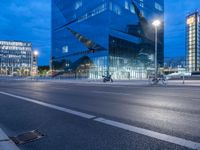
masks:
{"label": "wide dark grey asphalt road with shiny light reflections", "polygon": [[[18,145],[21,150],[189,149],[176,144],[176,138],[200,143],[199,93],[200,87],[0,81],[0,128],[8,136],[34,129],[45,134],[40,140]],[[174,143],[96,121],[98,118],[169,135],[175,137]]]}

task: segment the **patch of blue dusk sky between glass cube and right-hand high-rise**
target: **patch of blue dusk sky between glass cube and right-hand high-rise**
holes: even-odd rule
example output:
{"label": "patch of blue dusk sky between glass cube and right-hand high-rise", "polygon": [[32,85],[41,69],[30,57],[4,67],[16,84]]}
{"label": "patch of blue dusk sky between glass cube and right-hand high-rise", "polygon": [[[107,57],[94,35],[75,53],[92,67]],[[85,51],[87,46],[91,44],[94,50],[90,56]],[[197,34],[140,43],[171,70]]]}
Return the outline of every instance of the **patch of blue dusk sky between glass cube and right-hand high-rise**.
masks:
{"label": "patch of blue dusk sky between glass cube and right-hand high-rise", "polygon": [[200,0],[165,0],[165,57],[185,56],[186,16],[200,11]]}

